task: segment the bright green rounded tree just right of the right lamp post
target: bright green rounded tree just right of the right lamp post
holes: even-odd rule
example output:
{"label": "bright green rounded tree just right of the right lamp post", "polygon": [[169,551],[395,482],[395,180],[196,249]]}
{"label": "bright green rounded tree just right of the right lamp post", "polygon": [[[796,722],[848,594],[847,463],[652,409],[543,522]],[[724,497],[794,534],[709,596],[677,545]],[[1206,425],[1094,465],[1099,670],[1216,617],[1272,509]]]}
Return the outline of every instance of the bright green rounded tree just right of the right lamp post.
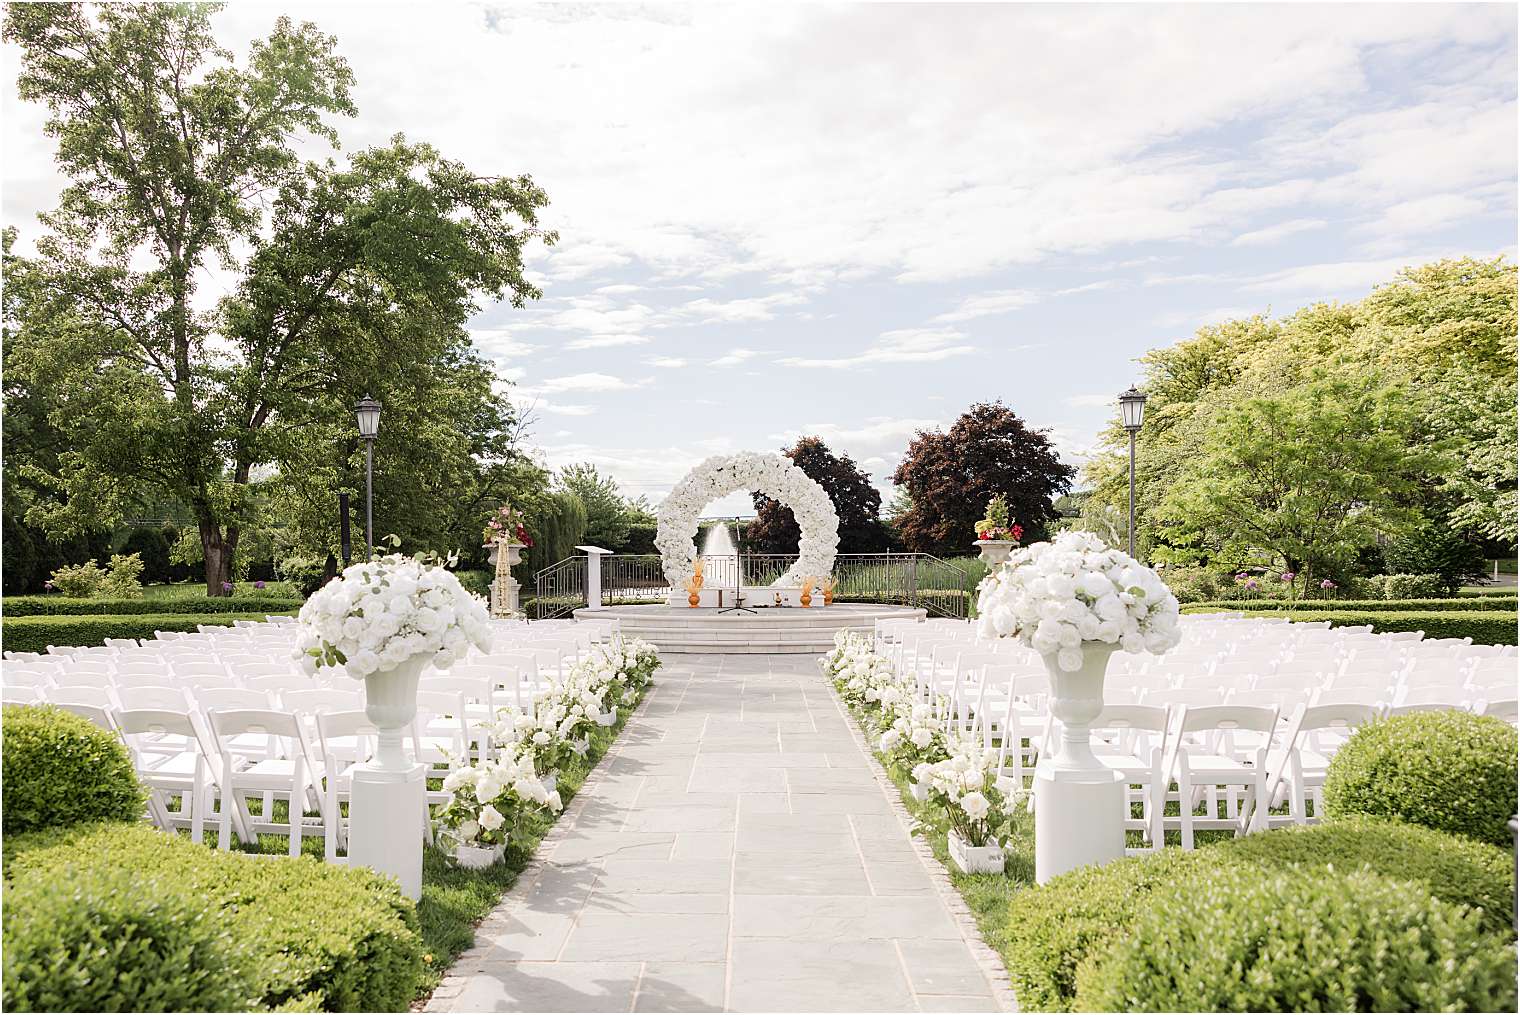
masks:
{"label": "bright green rounded tree just right of the right lamp post", "polygon": [[1380,533],[1418,520],[1406,504],[1441,460],[1408,445],[1411,416],[1395,389],[1362,375],[1246,398],[1211,422],[1160,524],[1216,567],[1272,567],[1306,587],[1341,574]]}

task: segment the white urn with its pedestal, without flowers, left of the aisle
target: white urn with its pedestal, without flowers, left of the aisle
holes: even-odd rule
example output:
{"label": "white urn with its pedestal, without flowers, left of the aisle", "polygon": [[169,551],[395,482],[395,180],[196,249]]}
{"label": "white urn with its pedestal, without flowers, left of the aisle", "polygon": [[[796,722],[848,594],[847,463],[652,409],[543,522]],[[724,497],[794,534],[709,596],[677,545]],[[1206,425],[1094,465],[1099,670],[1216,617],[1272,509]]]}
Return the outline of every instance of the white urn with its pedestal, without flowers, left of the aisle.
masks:
{"label": "white urn with its pedestal, without flowers, left of the aisle", "polygon": [[416,682],[426,666],[427,655],[413,655],[365,678],[365,714],[380,737],[374,757],[354,769],[348,804],[350,866],[394,877],[413,900],[423,896],[427,781],[401,737],[416,716]]}

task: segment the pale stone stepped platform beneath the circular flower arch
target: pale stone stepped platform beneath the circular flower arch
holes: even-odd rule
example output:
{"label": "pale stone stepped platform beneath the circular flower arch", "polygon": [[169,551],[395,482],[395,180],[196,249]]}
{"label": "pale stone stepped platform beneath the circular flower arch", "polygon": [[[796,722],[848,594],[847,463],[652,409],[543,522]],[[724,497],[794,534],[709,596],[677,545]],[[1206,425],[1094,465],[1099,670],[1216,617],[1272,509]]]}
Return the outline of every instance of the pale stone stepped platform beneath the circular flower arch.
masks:
{"label": "pale stone stepped platform beneath the circular flower arch", "polygon": [[575,615],[584,620],[617,617],[625,635],[654,641],[661,655],[822,655],[834,647],[838,631],[869,634],[877,620],[923,620],[924,611],[833,603],[809,609],[769,606],[752,614],[724,614],[660,603],[578,609]]}

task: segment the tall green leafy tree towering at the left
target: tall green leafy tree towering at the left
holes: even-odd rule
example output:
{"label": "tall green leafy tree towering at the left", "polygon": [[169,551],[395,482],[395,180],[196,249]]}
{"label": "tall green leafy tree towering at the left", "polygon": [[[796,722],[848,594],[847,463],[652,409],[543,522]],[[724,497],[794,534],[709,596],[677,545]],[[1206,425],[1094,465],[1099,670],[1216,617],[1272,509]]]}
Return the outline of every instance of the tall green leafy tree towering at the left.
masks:
{"label": "tall green leafy tree towering at the left", "polygon": [[[301,164],[298,134],[336,144],[328,117],[354,112],[348,65],[315,26],[280,18],[239,67],[211,36],[214,9],[11,5],[5,21],[20,94],[47,105],[71,179],[41,257],[14,264],[32,298],[8,368],[53,386],[67,439],[38,466],[55,497],[29,518],[70,532],[173,497],[195,515],[208,594],[231,580],[258,471],[307,488],[296,470],[351,476],[356,397],[426,416],[464,378],[470,404],[435,422],[492,412],[464,324],[483,295],[537,296],[523,246],[553,239],[529,178],[482,178],[426,144]],[[236,284],[208,307],[213,267]]]}

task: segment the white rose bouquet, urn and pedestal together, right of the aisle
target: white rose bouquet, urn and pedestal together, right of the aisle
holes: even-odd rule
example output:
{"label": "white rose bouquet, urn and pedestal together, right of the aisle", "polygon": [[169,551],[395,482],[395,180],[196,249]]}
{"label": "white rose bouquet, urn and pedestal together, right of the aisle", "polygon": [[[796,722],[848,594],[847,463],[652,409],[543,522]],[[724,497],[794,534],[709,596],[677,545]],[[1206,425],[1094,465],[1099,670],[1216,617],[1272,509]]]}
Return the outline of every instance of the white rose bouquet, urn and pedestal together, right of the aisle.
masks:
{"label": "white rose bouquet, urn and pedestal together, right of the aisle", "polygon": [[1160,576],[1090,532],[1015,552],[977,599],[982,634],[1040,652],[1050,711],[1061,723],[1055,757],[1035,766],[1035,880],[1123,855],[1123,776],[1091,748],[1110,656],[1160,655],[1181,640],[1176,597]]}

